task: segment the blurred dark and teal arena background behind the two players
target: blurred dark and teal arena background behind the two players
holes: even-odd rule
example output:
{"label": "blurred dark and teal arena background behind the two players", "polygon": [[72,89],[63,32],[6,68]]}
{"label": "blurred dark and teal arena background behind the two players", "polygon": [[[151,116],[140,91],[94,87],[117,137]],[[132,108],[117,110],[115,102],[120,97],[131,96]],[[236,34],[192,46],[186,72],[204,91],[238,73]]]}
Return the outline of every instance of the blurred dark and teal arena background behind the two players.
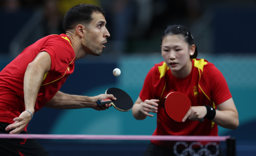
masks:
{"label": "blurred dark and teal arena background behind the two players", "polygon": [[[106,11],[111,34],[101,56],[86,56],[61,91],[95,96],[109,87],[138,98],[144,78],[163,61],[160,39],[170,24],[187,26],[204,58],[223,73],[233,95],[240,125],[219,127],[219,135],[236,137],[238,155],[256,153],[256,1],[255,0],[0,0],[0,69],[38,39],[64,33],[62,20],[74,5],[91,3]],[[114,68],[121,75],[112,74]],[[54,110],[34,115],[35,134],[151,135],[156,117],[137,121],[132,112],[91,108]]]}

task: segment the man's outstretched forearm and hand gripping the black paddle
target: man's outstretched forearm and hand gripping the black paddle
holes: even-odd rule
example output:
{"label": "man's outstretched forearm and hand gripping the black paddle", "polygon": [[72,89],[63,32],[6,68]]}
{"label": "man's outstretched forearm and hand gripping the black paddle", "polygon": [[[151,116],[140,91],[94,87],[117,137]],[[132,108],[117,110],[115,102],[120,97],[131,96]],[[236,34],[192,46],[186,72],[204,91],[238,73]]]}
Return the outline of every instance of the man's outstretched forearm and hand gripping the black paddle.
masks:
{"label": "man's outstretched forearm and hand gripping the black paddle", "polygon": [[56,109],[76,109],[76,108],[93,108],[97,111],[106,110],[111,104],[105,104],[99,106],[96,102],[100,99],[110,98],[116,100],[112,94],[100,94],[97,96],[80,96],[70,95],[58,91],[54,97],[46,103],[45,107],[56,108]]}

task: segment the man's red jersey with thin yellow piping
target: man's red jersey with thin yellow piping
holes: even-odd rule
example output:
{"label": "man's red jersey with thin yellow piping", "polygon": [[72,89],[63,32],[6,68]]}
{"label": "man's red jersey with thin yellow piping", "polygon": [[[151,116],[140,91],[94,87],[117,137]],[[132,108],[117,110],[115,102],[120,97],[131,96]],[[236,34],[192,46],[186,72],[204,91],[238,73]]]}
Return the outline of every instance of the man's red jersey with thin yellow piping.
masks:
{"label": "man's red jersey with thin yellow piping", "polygon": [[0,72],[0,122],[13,123],[25,111],[24,74],[28,64],[43,51],[51,57],[51,68],[44,74],[35,112],[53,98],[73,73],[75,53],[67,35],[49,35],[28,46]]}

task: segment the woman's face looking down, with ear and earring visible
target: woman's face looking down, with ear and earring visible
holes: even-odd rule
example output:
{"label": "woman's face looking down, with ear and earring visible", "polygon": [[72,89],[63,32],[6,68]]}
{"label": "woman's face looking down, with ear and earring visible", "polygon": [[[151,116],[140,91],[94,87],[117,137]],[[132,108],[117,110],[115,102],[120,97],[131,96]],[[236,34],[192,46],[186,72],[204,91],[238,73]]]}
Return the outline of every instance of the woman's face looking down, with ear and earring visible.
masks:
{"label": "woman's face looking down, with ear and earring visible", "polygon": [[192,62],[190,55],[195,52],[195,45],[189,46],[181,35],[167,35],[163,38],[161,53],[172,74],[178,78],[189,75]]}

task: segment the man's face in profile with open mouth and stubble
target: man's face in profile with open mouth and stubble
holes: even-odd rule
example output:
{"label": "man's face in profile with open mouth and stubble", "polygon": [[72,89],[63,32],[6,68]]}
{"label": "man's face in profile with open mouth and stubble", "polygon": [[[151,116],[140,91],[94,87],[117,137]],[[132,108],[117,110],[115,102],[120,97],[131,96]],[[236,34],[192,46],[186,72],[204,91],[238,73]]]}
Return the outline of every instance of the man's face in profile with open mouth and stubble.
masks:
{"label": "man's face in profile with open mouth and stubble", "polygon": [[110,34],[106,28],[105,17],[101,13],[93,13],[92,19],[90,25],[85,28],[84,50],[89,50],[88,54],[99,56]]}

